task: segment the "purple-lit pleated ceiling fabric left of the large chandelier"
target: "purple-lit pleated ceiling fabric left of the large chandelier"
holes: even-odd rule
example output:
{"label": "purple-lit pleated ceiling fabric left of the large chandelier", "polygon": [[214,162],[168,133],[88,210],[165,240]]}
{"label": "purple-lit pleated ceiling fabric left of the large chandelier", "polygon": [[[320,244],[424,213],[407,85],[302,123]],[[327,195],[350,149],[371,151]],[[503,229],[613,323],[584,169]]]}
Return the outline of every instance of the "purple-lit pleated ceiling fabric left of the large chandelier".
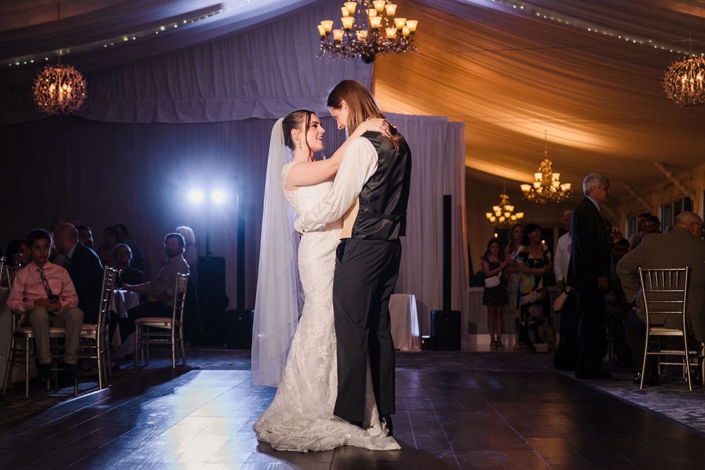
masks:
{"label": "purple-lit pleated ceiling fabric left of the large chandelier", "polygon": [[[72,2],[65,3],[70,5]],[[191,4],[193,8],[204,6],[202,1],[169,3]],[[243,4],[243,1],[223,3]],[[256,27],[234,33],[231,30],[251,26],[251,20],[249,17],[247,20],[237,20],[240,18],[237,15],[227,16],[229,10],[226,9],[210,18],[215,21],[223,16],[219,18],[221,23],[228,18],[233,21],[228,23],[227,27],[221,26],[218,29],[221,34],[229,33],[225,37],[117,67],[105,68],[111,60],[120,61],[123,55],[128,53],[118,47],[106,49],[105,52],[68,57],[65,62],[82,70],[89,86],[89,98],[76,115],[109,122],[195,123],[278,118],[293,109],[327,112],[325,100],[329,89],[344,78],[351,78],[369,86],[372,66],[362,61],[317,58],[319,35],[315,25],[321,15],[339,16],[340,10],[338,6],[328,2],[318,5],[317,8],[308,6],[292,11],[295,6],[307,3],[310,2],[286,2],[286,6],[283,6],[281,2],[269,0],[247,4],[269,6],[272,11],[272,7],[278,4],[280,8],[276,8],[276,11],[288,14],[269,18],[273,15],[270,12],[269,16],[265,17],[266,20]],[[233,10],[238,12],[239,6],[233,5]],[[101,13],[101,18],[104,16],[104,13]],[[106,20],[110,21],[110,25],[118,23],[110,17]],[[204,24],[204,27],[206,26],[207,24]],[[137,26],[131,26],[135,27]],[[114,32],[104,34],[121,35],[120,32],[125,29],[127,28],[124,25],[116,25],[113,27]],[[212,30],[185,33],[187,38],[179,37],[173,32],[169,34],[176,39],[176,44],[183,44],[189,35],[193,40],[200,40],[213,34]],[[154,41],[157,39],[160,38],[155,36]],[[79,40],[87,38],[85,35],[79,35],[75,41]],[[138,56],[145,54],[143,46],[153,51],[166,48],[166,45],[159,42],[153,44],[152,41],[151,38],[140,39],[134,44],[121,47],[134,49]],[[7,43],[2,45],[8,46]],[[173,47],[171,40],[168,45]],[[30,49],[3,49],[8,50],[17,55],[27,54]],[[4,52],[0,56],[5,57],[5,54],[7,53]],[[105,54],[105,57],[102,54]],[[15,70],[0,70],[0,80],[4,78],[5,73],[10,74],[6,77],[7,81],[18,78],[17,74],[12,75]],[[26,75],[27,69],[24,70]],[[4,106],[0,109],[0,123],[18,123],[42,117],[32,103],[29,86],[31,80],[32,75],[25,76],[24,83],[2,90],[0,102],[3,102]]]}

